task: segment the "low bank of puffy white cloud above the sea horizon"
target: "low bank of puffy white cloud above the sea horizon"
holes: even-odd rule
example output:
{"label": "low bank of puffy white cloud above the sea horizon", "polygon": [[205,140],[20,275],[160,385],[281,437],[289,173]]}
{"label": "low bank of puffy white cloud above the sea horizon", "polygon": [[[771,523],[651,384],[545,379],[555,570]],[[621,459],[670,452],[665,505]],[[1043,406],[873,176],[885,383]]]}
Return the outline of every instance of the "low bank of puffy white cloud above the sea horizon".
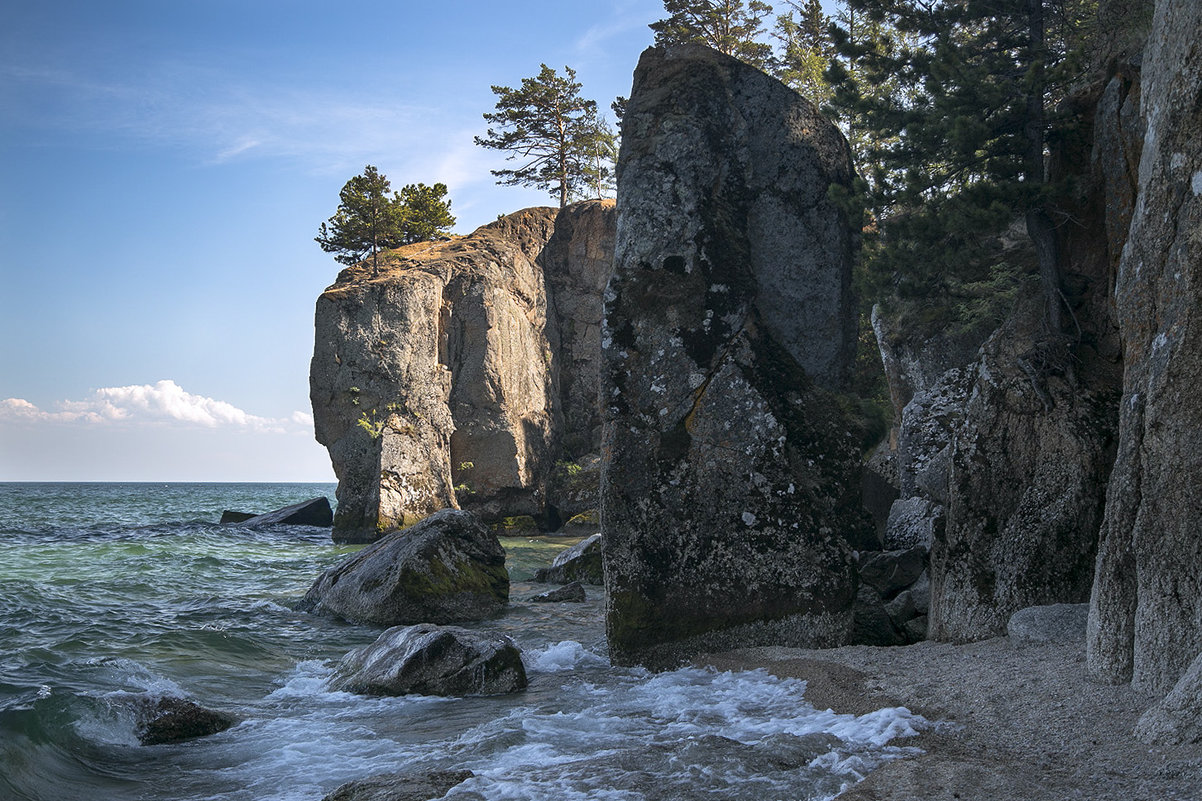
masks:
{"label": "low bank of puffy white cloud above the sea horizon", "polygon": [[0,422],[141,425],[173,423],[285,433],[311,429],[313,416],[294,411],[273,419],[249,414],[225,400],[192,394],[169,379],[155,384],[94,390],[82,400],[61,400],[43,410],[23,398],[0,400]]}

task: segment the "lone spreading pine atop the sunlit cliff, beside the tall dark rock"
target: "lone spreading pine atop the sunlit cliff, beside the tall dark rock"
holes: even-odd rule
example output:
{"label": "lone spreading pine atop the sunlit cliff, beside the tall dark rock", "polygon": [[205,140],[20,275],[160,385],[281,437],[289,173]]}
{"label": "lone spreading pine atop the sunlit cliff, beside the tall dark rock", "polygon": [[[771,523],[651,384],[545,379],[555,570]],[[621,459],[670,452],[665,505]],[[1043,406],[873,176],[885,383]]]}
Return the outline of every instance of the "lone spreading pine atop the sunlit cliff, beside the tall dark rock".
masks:
{"label": "lone spreading pine atop the sunlit cliff, beside the tall dark rock", "polygon": [[605,184],[613,162],[614,135],[597,115],[594,100],[581,97],[576,71],[564,67],[559,76],[546,64],[537,76],[522,78],[517,89],[493,87],[496,111],[484,120],[495,127],[476,144],[505,150],[507,160],[518,159],[514,170],[493,170],[505,186],[535,186],[551,191],[563,208],[575,198],[588,197]]}

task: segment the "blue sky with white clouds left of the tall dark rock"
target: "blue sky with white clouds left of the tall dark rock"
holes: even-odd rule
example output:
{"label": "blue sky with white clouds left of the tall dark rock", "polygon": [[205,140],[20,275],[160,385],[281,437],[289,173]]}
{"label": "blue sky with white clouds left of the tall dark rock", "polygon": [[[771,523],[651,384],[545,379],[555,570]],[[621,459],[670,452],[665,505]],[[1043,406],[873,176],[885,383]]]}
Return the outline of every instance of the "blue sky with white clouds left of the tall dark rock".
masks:
{"label": "blue sky with white clouds left of the tall dark rock", "polygon": [[[659,0],[0,4],[0,481],[333,481],[309,405],[313,237],[368,164],[495,185],[490,85],[608,109]],[[511,166],[511,165],[510,165]]]}

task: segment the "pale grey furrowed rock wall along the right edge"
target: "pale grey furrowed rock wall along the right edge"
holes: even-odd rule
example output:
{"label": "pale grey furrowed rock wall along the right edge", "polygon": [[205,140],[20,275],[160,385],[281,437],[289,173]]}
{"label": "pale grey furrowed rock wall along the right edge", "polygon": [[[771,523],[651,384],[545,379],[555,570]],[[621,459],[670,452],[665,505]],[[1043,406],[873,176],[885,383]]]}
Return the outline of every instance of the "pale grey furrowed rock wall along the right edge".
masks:
{"label": "pale grey furrowed rock wall along the right edge", "polygon": [[1202,652],[1202,5],[1156,2],[1138,200],[1114,297],[1124,349],[1088,664],[1167,692]]}

